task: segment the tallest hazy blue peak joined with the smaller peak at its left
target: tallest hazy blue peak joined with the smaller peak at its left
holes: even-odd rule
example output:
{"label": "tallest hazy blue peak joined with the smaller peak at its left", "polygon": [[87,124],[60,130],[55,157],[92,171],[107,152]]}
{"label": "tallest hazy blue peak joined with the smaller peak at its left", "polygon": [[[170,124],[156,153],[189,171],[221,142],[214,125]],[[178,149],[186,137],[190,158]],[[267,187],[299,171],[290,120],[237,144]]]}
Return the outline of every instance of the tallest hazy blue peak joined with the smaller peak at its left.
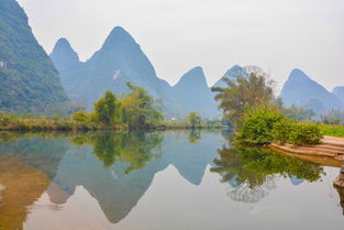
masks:
{"label": "tallest hazy blue peak joined with the smaller peak at its left", "polygon": [[106,90],[126,92],[127,81],[145,88],[158,99],[164,98],[164,89],[169,87],[157,78],[140,45],[120,26],[112,30],[102,47],[86,63],[78,64],[77,54],[66,40],[57,42],[51,57],[62,74],[67,92],[88,108]]}

